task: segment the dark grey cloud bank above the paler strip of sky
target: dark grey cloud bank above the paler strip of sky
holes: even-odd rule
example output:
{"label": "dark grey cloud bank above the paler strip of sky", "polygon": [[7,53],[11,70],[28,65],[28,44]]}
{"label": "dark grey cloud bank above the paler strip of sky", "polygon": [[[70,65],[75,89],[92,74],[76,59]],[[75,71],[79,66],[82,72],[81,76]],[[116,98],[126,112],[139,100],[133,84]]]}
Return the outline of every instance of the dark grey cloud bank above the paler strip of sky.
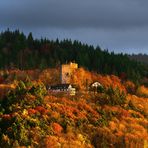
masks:
{"label": "dark grey cloud bank above the paler strip of sky", "polygon": [[148,25],[147,1],[14,0],[11,3],[6,0],[0,5],[1,25],[105,29]]}

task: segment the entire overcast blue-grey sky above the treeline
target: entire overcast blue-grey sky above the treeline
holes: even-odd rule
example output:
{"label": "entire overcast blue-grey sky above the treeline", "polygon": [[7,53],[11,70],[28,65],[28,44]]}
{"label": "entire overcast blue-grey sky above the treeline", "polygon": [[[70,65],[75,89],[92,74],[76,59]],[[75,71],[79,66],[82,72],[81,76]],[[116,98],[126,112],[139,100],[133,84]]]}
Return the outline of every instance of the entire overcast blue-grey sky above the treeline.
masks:
{"label": "entire overcast blue-grey sky above the treeline", "polygon": [[148,0],[0,0],[0,31],[148,54]]}

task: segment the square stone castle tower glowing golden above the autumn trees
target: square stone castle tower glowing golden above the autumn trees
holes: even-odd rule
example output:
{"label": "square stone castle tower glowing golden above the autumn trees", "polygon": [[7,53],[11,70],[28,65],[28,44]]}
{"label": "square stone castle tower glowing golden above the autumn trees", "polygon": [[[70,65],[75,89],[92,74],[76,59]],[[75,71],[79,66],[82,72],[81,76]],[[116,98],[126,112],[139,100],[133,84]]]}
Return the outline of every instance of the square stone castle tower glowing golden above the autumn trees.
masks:
{"label": "square stone castle tower glowing golden above the autumn trees", "polygon": [[61,65],[61,74],[60,74],[61,83],[62,84],[70,83],[71,76],[73,75],[74,70],[77,68],[78,64],[72,62],[70,62],[69,64]]}

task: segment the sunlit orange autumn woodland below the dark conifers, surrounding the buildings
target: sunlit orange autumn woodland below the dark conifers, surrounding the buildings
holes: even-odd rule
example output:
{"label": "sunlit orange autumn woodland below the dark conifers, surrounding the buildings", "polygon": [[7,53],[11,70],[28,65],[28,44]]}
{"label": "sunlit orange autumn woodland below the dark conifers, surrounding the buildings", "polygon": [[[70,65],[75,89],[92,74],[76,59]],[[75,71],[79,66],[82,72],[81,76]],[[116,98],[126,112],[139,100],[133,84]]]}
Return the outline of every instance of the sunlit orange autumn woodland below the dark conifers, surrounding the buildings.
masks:
{"label": "sunlit orange autumn woodland below the dark conifers, surrounding the buildings", "polygon": [[[147,148],[148,88],[79,68],[76,94],[51,92],[60,69],[0,76],[0,147]],[[99,89],[91,89],[99,82]]]}

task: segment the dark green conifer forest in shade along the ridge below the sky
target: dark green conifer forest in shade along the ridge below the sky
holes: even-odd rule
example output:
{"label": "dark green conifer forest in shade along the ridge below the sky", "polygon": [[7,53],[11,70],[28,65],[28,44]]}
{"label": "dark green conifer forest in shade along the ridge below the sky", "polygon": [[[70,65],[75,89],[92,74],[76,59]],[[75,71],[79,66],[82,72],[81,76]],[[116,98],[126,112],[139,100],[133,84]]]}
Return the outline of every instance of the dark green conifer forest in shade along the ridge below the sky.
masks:
{"label": "dark green conifer forest in shade along the ridge below the sky", "polygon": [[138,81],[148,76],[146,64],[131,60],[127,54],[115,54],[79,41],[34,39],[19,30],[0,34],[1,69],[44,69],[75,61],[87,70],[115,74]]}

